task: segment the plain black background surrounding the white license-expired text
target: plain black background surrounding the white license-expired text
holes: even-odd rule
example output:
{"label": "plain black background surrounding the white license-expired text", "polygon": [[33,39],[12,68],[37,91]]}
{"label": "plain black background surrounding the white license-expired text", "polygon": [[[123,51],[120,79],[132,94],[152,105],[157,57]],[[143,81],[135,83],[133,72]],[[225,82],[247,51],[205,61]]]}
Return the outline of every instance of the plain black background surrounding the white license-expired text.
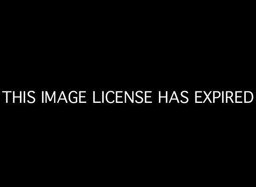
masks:
{"label": "plain black background surrounding the white license-expired text", "polygon": [[[196,105],[193,96],[255,94],[247,7],[42,7],[3,13],[1,91],[152,90],[154,104],[2,102],[5,176],[131,184],[250,178],[255,101]],[[183,90],[187,105],[157,104],[157,91]]]}

